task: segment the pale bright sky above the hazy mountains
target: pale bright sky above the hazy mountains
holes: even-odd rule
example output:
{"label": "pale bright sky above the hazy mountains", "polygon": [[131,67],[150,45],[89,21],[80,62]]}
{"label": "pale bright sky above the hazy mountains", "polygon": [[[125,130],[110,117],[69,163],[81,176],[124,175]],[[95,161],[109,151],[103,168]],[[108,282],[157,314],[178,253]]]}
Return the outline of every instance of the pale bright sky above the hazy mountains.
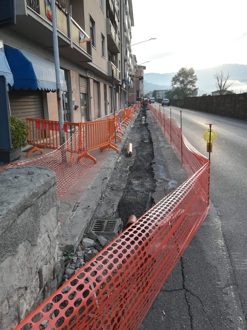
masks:
{"label": "pale bright sky above the hazy mountains", "polygon": [[[132,52],[146,73],[247,64],[247,0],[132,0]],[[138,42],[157,38],[139,45]]]}

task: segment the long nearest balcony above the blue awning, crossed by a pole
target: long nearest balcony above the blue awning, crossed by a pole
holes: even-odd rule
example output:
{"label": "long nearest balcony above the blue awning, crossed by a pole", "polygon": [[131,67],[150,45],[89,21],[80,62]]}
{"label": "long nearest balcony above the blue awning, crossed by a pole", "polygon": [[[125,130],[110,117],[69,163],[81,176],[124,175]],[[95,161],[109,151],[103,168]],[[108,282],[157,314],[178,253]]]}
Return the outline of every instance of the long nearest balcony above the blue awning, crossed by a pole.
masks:
{"label": "long nearest balcony above the blue awning, crossed by a pole", "polygon": [[[28,38],[43,48],[53,48],[52,21],[46,16],[45,1],[18,0],[16,2],[16,25],[10,27],[15,34]],[[74,62],[92,62],[91,42],[79,43],[80,32],[87,34],[56,5],[59,54]]]}

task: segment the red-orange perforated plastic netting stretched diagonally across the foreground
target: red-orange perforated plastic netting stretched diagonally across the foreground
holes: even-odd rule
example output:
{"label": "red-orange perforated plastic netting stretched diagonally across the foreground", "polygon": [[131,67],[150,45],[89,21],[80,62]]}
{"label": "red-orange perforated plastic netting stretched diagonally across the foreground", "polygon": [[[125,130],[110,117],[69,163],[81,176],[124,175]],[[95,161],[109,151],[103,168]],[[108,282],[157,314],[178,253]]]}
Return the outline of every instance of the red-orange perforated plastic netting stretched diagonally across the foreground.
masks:
{"label": "red-orange perforated plastic netting stretched diagonally across the foreground", "polygon": [[184,165],[188,161],[189,171],[200,162],[205,164],[99,252],[15,330],[138,329],[209,210],[210,162],[193,153],[190,149],[183,159]]}

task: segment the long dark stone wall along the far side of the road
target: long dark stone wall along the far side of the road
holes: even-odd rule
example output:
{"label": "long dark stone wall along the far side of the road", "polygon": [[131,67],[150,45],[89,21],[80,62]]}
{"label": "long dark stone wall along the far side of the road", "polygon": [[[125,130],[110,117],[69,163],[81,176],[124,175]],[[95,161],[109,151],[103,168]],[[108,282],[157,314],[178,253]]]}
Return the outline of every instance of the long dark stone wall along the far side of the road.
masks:
{"label": "long dark stone wall along the far side of the road", "polygon": [[218,116],[247,120],[247,93],[171,99],[170,105],[208,112]]}

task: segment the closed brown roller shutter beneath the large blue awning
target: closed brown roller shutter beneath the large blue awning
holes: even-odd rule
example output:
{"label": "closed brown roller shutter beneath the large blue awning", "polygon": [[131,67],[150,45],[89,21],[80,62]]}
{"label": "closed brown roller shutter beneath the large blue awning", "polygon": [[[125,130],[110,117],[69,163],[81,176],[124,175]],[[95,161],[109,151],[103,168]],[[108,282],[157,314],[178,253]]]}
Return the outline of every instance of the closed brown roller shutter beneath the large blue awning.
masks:
{"label": "closed brown roller shutter beneath the large blue awning", "polygon": [[26,121],[26,117],[44,119],[41,90],[10,90],[11,116]]}

